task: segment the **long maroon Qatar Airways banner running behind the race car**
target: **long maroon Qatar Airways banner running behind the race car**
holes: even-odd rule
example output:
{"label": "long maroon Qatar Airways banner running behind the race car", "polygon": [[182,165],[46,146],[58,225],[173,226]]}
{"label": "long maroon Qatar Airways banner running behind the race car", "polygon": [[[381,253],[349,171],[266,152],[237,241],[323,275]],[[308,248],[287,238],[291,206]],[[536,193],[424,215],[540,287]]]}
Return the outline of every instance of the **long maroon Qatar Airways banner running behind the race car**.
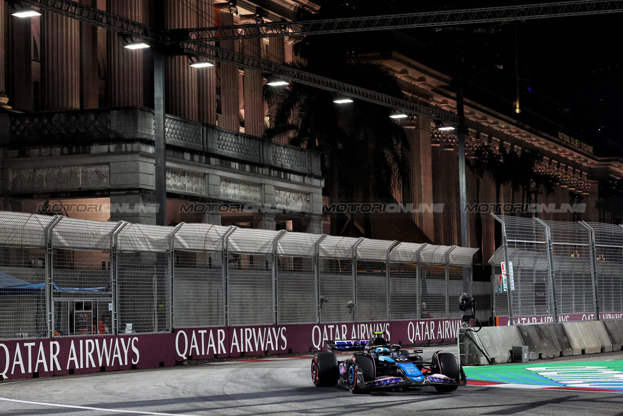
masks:
{"label": "long maroon Qatar Airways banner running behind the race car", "polygon": [[455,341],[461,319],[367,323],[288,324],[176,329],[173,333],[0,340],[0,377],[27,379],[100,371],[174,366],[224,357],[315,352],[331,339],[368,339],[383,332],[389,343]]}

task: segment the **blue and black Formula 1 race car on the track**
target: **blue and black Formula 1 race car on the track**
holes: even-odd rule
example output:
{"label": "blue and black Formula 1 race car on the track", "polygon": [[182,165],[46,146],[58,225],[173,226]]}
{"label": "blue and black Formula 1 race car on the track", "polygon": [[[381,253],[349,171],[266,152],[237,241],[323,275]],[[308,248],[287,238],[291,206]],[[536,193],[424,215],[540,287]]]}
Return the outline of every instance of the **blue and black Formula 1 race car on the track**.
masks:
{"label": "blue and black Formula 1 race car on the track", "polygon": [[[340,387],[354,394],[371,390],[404,390],[410,387],[432,385],[438,392],[449,393],[467,384],[463,368],[454,354],[437,351],[430,362],[401,349],[388,345],[374,333],[371,339],[328,341],[327,351],[318,352],[312,359],[312,381],[316,387]],[[345,361],[338,361],[335,351],[356,351]]]}

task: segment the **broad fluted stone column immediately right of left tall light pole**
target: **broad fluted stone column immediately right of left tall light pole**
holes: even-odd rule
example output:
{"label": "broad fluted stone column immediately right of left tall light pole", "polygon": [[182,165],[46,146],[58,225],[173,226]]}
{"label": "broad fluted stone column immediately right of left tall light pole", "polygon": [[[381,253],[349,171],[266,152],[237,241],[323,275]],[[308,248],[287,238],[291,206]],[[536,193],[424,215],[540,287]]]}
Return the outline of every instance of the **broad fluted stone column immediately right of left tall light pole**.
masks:
{"label": "broad fluted stone column immediately right of left tall light pole", "polygon": [[[194,3],[194,2],[193,2]],[[166,29],[197,27],[197,9],[186,2],[166,0]],[[166,70],[166,112],[189,120],[199,119],[197,106],[197,72],[209,68],[193,68],[186,56],[169,57],[165,61]]]}

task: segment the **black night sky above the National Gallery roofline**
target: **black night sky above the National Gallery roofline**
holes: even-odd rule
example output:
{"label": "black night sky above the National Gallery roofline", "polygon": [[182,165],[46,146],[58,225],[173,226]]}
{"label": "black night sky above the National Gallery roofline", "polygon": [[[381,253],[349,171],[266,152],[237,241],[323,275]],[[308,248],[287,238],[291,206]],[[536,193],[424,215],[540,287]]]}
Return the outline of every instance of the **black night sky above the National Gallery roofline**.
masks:
{"label": "black night sky above the National Gallery roofline", "polygon": [[[350,14],[355,6],[355,12],[361,16],[538,3],[521,0],[315,2],[325,7],[325,11],[333,9],[332,13],[337,10],[339,14]],[[521,104],[567,126],[569,133],[577,133],[585,141],[596,144],[596,148],[606,139],[623,143],[619,128],[623,120],[622,24],[623,12],[518,22]],[[487,31],[482,33],[478,29]],[[472,24],[442,31],[412,29],[406,33],[427,46],[426,51],[414,58],[450,75],[462,75],[509,100],[515,99],[515,24]],[[502,65],[502,69],[494,65]],[[467,89],[465,95],[470,98]]]}

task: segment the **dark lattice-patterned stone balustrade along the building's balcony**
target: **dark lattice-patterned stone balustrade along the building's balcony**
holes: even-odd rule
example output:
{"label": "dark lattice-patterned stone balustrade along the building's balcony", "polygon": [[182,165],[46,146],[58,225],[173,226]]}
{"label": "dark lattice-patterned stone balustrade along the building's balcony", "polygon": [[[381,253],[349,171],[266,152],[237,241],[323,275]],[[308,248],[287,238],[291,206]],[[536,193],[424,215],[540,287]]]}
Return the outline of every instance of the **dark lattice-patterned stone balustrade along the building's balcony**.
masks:
{"label": "dark lattice-patterned stone balustrade along the building's balcony", "polygon": [[[165,116],[166,144],[296,173],[320,175],[320,153],[181,117]],[[153,110],[142,107],[0,115],[0,146],[153,140]]]}

